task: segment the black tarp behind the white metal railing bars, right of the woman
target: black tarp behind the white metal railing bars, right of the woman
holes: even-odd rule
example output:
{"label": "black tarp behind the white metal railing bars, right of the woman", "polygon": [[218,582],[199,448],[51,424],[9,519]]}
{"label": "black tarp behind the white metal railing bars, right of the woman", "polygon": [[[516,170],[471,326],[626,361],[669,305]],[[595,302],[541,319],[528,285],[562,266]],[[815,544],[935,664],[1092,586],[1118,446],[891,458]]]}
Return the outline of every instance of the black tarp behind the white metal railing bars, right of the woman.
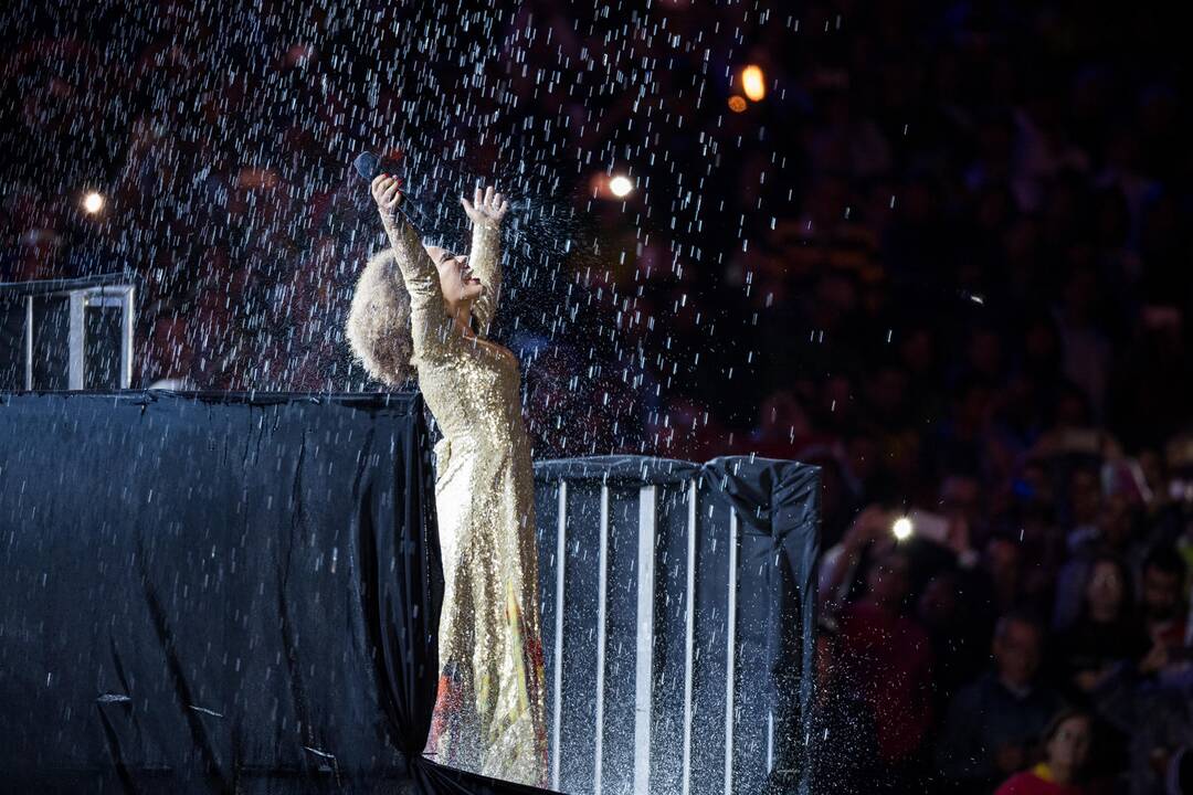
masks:
{"label": "black tarp behind the white metal railing bars, right of the woman", "polygon": [[[549,720],[552,739],[557,737],[561,745],[560,789],[592,791],[600,756],[605,791],[631,791],[635,765],[641,764],[635,710],[642,704],[636,703],[635,677],[641,670],[637,589],[644,565],[637,540],[645,510],[641,489],[653,485],[655,508],[647,511],[654,517],[649,790],[685,791],[685,678],[691,654],[687,791],[724,793],[728,766],[735,793],[806,795],[812,762],[805,757],[805,716],[814,683],[818,467],[753,456],[704,465],[605,456],[539,462],[534,480]],[[563,522],[560,483],[567,484]],[[602,486],[607,487],[604,563]],[[734,521],[737,542],[731,560]],[[736,582],[731,627],[730,571]],[[605,666],[601,704],[598,660]],[[725,707],[730,687],[731,720]],[[733,749],[728,765],[727,744]]]}

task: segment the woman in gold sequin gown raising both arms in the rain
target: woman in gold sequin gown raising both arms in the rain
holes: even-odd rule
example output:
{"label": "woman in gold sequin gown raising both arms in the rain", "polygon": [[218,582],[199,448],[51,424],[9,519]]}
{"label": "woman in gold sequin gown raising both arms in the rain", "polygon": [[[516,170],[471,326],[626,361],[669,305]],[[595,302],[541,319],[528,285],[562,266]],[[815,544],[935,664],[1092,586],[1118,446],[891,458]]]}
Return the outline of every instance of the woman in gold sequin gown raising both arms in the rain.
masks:
{"label": "woman in gold sequin gown raising both arms in the rain", "polygon": [[419,241],[397,211],[392,178],[378,176],[372,192],[392,250],[370,260],[357,285],[348,340],[389,384],[403,383],[413,365],[444,434],[435,445],[435,508],[445,591],[426,752],[543,787],[543,648],[521,377],[517,358],[484,339],[501,287],[506,203],[492,187],[462,199],[472,222],[464,257]]}

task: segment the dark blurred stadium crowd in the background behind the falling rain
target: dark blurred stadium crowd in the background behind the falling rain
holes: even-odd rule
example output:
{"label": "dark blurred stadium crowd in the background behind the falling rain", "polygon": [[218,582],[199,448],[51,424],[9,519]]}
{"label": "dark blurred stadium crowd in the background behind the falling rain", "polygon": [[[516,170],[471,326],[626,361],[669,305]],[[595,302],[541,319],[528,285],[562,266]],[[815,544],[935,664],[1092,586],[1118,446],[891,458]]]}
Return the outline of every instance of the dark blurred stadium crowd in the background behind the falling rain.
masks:
{"label": "dark blurred stadium crowd in the background behind the falling rain", "polygon": [[[409,43],[398,5],[361,4],[364,37],[317,4],[30,23],[0,55],[0,281],[128,268],[135,386],[376,387],[341,327],[378,238],[342,194],[415,91],[365,66]],[[455,46],[496,50],[476,74],[514,110],[458,135],[484,161],[550,126],[601,242],[500,310],[536,456],[822,467],[817,791],[1193,791],[1179,26],[1064,0],[493,19]],[[422,91],[449,44],[409,51]],[[731,106],[747,63],[769,93]]]}

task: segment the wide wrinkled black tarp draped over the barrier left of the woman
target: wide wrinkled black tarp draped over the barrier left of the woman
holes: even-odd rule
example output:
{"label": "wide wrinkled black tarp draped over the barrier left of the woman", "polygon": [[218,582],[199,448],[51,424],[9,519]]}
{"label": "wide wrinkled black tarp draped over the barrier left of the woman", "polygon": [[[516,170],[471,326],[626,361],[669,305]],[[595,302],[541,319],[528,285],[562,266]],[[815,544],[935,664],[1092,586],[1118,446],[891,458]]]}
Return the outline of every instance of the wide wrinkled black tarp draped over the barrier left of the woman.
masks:
{"label": "wide wrinkled black tarp draped over the barrier left of the woman", "polygon": [[421,757],[416,395],[0,395],[0,789],[533,793]]}

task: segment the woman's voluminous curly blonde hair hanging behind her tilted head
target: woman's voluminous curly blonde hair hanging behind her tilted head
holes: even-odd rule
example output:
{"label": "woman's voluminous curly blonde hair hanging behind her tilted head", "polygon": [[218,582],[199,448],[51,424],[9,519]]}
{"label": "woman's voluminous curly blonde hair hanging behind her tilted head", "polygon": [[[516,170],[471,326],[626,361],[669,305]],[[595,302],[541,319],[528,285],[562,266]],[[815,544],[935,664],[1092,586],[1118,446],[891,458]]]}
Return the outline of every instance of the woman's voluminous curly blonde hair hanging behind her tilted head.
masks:
{"label": "woman's voluminous curly blonde hair hanging behind her tilted head", "polygon": [[369,257],[357,280],[347,339],[356,360],[387,386],[403,386],[413,378],[410,294],[389,247]]}

